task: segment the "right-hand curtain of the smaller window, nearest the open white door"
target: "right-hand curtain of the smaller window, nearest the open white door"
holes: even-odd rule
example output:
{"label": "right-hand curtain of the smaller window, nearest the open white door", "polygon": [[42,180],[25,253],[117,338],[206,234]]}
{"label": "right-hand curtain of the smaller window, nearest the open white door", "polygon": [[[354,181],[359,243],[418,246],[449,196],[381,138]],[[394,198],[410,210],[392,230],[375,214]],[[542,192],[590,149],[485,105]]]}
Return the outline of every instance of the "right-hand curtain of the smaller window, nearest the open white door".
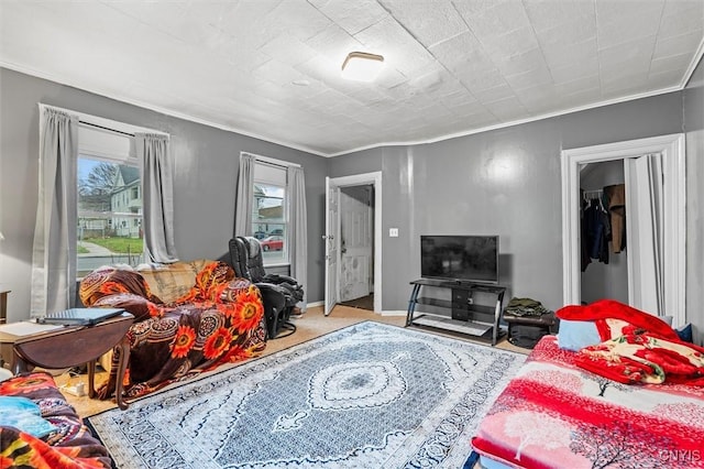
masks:
{"label": "right-hand curtain of the smaller window, nearest the open white door", "polygon": [[[306,179],[301,167],[288,166],[287,187],[289,205],[289,251],[290,276],[296,279],[304,291],[308,291],[308,221],[306,209]],[[301,310],[306,310],[308,295],[298,303]]]}

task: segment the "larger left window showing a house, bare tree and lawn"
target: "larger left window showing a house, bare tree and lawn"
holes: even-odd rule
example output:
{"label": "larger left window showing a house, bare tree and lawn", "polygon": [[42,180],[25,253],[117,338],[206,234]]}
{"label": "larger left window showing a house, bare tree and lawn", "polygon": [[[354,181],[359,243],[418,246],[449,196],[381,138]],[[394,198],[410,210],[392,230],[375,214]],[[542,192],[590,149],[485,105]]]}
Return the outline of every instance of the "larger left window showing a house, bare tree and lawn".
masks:
{"label": "larger left window showing a house, bare tree and lawn", "polygon": [[144,262],[141,175],[131,138],[82,124],[78,149],[78,277],[106,264]]}

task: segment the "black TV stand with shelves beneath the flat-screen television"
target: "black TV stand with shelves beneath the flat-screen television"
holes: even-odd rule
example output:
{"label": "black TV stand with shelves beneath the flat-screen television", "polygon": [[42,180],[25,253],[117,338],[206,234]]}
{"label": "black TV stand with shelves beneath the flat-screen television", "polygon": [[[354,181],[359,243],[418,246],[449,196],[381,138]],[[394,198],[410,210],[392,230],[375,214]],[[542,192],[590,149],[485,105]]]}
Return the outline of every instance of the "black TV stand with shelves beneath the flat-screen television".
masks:
{"label": "black TV stand with shelves beneath the flat-screen television", "polygon": [[[496,345],[502,336],[498,321],[506,292],[504,286],[437,279],[420,279],[410,284],[413,291],[408,301],[406,326],[452,330],[491,340],[492,346]],[[426,294],[427,290],[432,288],[436,290],[435,295],[431,292]],[[442,288],[450,290],[450,298],[442,294]],[[424,296],[419,296],[421,290]],[[484,301],[475,301],[477,296],[482,296]],[[426,305],[430,310],[416,312],[416,305]]]}

